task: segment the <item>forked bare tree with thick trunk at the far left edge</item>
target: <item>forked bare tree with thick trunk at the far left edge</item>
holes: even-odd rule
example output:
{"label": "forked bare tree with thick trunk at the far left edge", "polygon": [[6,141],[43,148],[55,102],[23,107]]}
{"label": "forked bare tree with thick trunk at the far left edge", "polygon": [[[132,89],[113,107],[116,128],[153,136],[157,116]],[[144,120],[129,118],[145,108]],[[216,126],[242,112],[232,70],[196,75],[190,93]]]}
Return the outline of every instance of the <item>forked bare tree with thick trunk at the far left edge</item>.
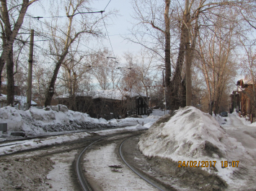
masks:
{"label": "forked bare tree with thick trunk at the far left edge", "polygon": [[[0,24],[2,52],[0,56],[0,75],[6,62],[7,71],[7,104],[14,104],[14,58],[13,45],[17,37],[20,27],[27,12],[28,6],[37,0],[11,1],[1,0]],[[0,78],[0,94],[1,94],[1,78]]]}

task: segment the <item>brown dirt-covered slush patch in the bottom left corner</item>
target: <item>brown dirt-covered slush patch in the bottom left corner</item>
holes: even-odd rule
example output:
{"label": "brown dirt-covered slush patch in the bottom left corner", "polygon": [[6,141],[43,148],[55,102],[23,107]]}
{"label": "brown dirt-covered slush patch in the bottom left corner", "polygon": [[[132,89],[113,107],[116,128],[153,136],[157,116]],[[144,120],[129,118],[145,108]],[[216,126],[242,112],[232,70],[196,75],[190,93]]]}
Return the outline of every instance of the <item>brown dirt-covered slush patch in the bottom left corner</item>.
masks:
{"label": "brown dirt-covered slush patch in the bottom left corner", "polygon": [[48,190],[53,164],[48,157],[0,159],[0,190]]}

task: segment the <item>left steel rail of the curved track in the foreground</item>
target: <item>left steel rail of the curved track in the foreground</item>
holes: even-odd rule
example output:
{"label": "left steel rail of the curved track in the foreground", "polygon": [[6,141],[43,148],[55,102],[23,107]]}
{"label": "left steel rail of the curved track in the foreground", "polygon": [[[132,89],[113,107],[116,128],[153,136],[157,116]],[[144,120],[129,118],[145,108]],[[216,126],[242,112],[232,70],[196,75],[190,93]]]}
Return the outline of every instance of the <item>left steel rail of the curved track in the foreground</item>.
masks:
{"label": "left steel rail of the curved track in the foreground", "polygon": [[[107,136],[109,137],[109,136]],[[104,137],[104,138],[101,138],[101,139],[97,139],[97,141],[100,141],[102,139],[106,139],[107,137]],[[79,182],[81,184],[81,187],[84,191],[92,191],[92,188],[89,186],[89,184],[87,183],[86,180],[84,180],[84,175],[83,175],[83,172],[81,171],[81,168],[80,168],[80,159],[81,159],[81,156],[84,154],[84,152],[89,148],[89,146],[91,146],[92,144],[96,143],[97,141],[94,141],[92,142],[91,144],[89,144],[87,147],[85,147],[79,154],[79,156],[77,157],[76,159],[76,174],[77,174],[77,177],[79,179]]]}

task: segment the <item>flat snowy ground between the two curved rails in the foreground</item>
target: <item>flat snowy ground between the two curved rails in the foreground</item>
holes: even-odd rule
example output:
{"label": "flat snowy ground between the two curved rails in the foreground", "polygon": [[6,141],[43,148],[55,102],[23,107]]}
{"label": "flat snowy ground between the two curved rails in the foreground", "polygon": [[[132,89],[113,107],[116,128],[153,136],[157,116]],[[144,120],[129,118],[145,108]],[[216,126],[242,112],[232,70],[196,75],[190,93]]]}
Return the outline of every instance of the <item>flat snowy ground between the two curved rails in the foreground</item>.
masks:
{"label": "flat snowy ground between the two curved rails in the foreground", "polygon": [[[116,144],[107,144],[100,146],[100,149],[87,152],[84,156],[84,169],[87,171],[87,176],[94,179],[92,182],[100,180],[95,190],[158,190],[146,181],[138,178],[126,165],[120,162],[117,154],[115,154]],[[110,165],[121,166],[122,168],[114,171]],[[120,181],[122,180],[122,181]]]}

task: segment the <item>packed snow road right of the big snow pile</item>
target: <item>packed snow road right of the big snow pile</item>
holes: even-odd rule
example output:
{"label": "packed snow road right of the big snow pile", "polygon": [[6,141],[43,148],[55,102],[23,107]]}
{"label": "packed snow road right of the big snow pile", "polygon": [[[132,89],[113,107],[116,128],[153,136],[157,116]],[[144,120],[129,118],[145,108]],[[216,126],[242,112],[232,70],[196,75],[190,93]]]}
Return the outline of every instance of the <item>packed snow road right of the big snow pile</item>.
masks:
{"label": "packed snow road right of the big snow pile", "polygon": [[[237,139],[244,146],[247,155],[234,153],[232,160],[239,160],[239,168],[234,171],[233,179],[240,182],[239,187],[229,185],[229,190],[256,189],[256,128],[250,126],[249,121],[239,118],[237,113],[226,117],[226,124],[221,125],[229,136]],[[236,184],[237,185],[237,184]]]}

